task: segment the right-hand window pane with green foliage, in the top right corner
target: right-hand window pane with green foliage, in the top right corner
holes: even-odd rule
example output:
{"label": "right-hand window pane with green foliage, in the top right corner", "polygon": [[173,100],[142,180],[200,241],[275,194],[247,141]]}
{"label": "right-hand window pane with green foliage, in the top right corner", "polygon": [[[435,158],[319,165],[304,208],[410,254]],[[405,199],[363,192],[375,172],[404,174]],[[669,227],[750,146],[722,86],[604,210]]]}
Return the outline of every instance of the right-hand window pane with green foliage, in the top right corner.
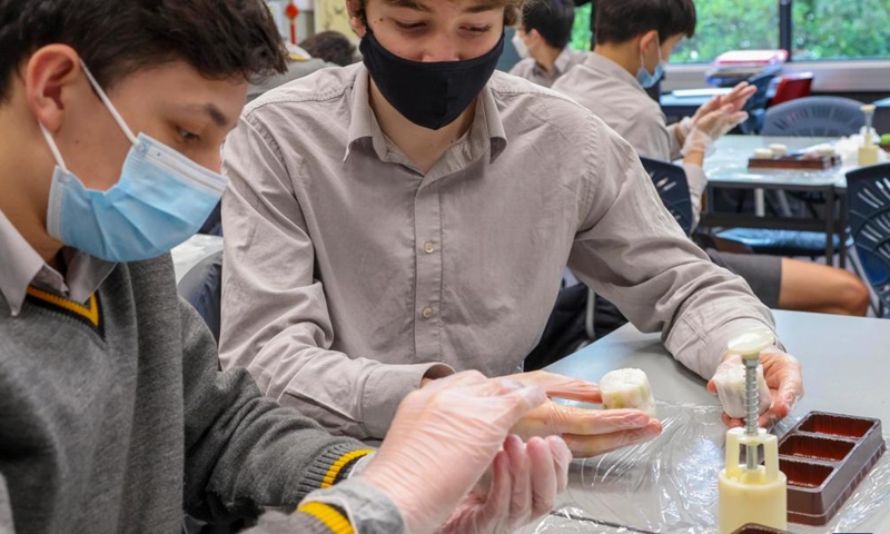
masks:
{"label": "right-hand window pane with green foliage, in the top right corner", "polygon": [[793,58],[890,56],[890,0],[794,0]]}

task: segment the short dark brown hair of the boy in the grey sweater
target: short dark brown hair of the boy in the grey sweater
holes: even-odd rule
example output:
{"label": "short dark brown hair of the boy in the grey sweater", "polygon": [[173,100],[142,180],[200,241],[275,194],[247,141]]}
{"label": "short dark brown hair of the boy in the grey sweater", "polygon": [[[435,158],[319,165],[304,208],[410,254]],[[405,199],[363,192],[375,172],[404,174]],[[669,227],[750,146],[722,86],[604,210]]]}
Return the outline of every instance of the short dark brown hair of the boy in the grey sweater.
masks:
{"label": "short dark brown hair of the boy in the grey sweater", "polygon": [[106,89],[175,60],[208,79],[287,69],[263,0],[0,0],[0,102],[21,62],[53,43],[73,48]]}

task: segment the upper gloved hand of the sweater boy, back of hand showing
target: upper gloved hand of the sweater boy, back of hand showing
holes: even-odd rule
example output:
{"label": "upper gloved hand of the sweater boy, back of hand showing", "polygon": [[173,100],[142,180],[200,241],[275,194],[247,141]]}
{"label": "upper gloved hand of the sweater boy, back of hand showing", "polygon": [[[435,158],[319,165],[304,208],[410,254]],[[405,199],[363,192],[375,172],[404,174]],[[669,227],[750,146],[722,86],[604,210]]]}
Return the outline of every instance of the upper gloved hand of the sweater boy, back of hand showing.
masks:
{"label": "upper gloved hand of the sweater boy, back of hand showing", "polygon": [[405,397],[386,439],[357,477],[393,501],[408,532],[432,533],[464,502],[510,428],[545,400],[540,386],[487,379],[478,372],[434,380]]}

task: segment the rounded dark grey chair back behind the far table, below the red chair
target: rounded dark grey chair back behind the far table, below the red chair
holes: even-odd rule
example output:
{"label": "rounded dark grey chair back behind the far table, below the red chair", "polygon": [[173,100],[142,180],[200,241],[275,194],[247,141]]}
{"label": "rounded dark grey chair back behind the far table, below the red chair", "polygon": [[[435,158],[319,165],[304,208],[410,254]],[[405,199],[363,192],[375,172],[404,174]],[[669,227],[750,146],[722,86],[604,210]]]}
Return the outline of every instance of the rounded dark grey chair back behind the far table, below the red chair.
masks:
{"label": "rounded dark grey chair back behind the far table, below the red chair", "polygon": [[840,97],[809,97],[767,110],[763,136],[842,137],[866,125],[862,102]]}

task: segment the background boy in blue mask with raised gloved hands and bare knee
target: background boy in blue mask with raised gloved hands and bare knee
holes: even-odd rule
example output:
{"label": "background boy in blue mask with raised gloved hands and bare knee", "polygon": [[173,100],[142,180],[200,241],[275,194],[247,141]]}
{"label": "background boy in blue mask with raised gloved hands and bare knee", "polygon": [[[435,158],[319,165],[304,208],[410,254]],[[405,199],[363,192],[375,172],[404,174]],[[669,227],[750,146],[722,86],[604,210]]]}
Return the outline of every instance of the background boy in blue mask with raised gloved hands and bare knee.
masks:
{"label": "background boy in blue mask with raised gloved hands and bare knee", "polygon": [[[698,221],[708,178],[702,169],[713,142],[743,121],[754,92],[746,83],[718,97],[695,116],[671,127],[645,89],[661,78],[674,47],[695,32],[692,0],[599,0],[596,49],[553,85],[602,118],[640,156],[683,158],[693,219]],[[864,284],[842,269],[764,255],[708,250],[711,259],[742,276],[769,307],[843,315],[866,315]]]}

